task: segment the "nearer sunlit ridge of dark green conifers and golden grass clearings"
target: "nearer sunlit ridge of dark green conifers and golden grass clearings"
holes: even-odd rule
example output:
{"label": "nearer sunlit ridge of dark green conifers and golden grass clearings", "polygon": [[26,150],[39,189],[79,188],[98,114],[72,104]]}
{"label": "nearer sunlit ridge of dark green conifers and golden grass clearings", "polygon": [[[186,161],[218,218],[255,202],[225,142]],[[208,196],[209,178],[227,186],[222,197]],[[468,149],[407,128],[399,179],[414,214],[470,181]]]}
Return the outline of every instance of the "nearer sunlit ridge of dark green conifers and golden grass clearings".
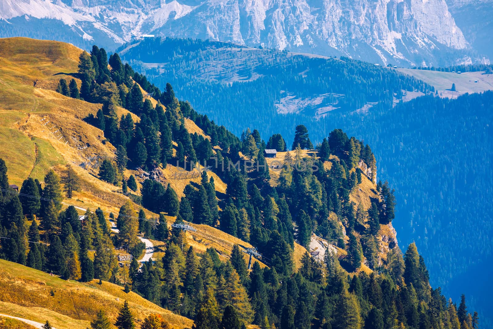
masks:
{"label": "nearer sunlit ridge of dark green conifers and golden grass clearings", "polygon": [[[376,183],[376,159],[362,141],[335,129],[314,149],[303,125],[294,130],[290,147],[280,134],[266,143],[258,130],[246,129],[238,138],[178,101],[171,85],[164,91],[151,85],[117,54],[108,60],[96,46],[88,54],[54,41],[2,42],[0,69],[9,83],[2,84],[8,120],[1,129],[25,145],[36,142],[35,170],[24,173],[17,162],[21,144],[1,149],[3,258],[92,285],[93,278],[119,284],[124,293],[132,290],[193,319],[196,329],[478,328],[477,314],[467,312],[464,299],[457,307],[440,289],[431,289],[414,244],[404,256],[396,248],[393,190],[387,182]],[[33,107],[22,112],[19,104]],[[57,111],[66,121],[53,128],[61,120]],[[80,139],[84,145],[77,144]],[[80,162],[86,149],[102,156],[97,165]],[[265,149],[279,151],[280,164],[267,157],[272,152],[264,156]],[[211,157],[218,165],[208,162],[210,172],[189,166],[193,161],[205,167]],[[188,169],[180,173],[198,172],[200,178],[183,179],[183,186],[167,170],[177,172],[185,163]],[[9,184],[11,173],[22,180],[19,194]],[[88,182],[94,194],[81,188]],[[216,182],[226,185],[223,193]],[[109,195],[113,199],[107,201]],[[79,219],[72,204],[101,208]],[[115,216],[108,211],[113,208]],[[114,222],[118,230],[109,226]],[[176,225],[169,229],[169,223]],[[185,223],[196,231],[178,228]],[[215,232],[205,238],[205,227]],[[323,259],[299,255],[298,243],[309,247],[313,233],[329,244]],[[141,269],[139,235],[162,248],[161,258],[153,256]],[[264,263],[254,258],[251,270],[242,252],[248,246]],[[118,266],[114,247],[135,257]],[[91,327],[108,328],[111,320],[132,328],[133,307],[124,303],[116,319],[93,309]],[[141,328],[155,328],[145,326],[156,321],[183,328],[152,314]]]}

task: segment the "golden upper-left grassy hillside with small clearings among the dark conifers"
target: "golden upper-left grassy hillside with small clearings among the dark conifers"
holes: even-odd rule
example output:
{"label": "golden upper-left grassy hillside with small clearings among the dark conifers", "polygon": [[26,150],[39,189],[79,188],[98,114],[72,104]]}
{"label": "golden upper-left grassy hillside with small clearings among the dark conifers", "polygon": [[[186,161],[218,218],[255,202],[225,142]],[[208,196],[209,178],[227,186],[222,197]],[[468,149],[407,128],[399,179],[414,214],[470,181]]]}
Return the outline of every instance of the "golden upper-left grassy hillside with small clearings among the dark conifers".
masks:
{"label": "golden upper-left grassy hillside with small clearings among the dark conifers", "polygon": [[[89,113],[96,114],[101,105],[54,91],[60,78],[76,76],[81,51],[57,41],[0,39],[0,158],[7,164],[10,183],[19,186],[28,177],[42,182],[49,168],[61,172],[62,165],[70,164],[81,178],[81,189],[65,202],[93,210],[101,207],[117,214],[119,207],[129,200],[119,192],[120,187],[99,180],[97,170],[87,171],[78,166],[95,154],[114,157],[115,148],[110,143],[102,143],[103,132],[82,120]],[[35,80],[36,87],[33,86]],[[154,99],[151,102],[157,103]],[[118,115],[124,113],[128,111],[118,109]],[[185,119],[185,124],[190,132],[209,138],[193,121]],[[176,171],[176,167],[168,165],[163,173],[171,177]],[[126,171],[124,175],[128,177],[131,173],[137,172]],[[214,177],[216,190],[225,193],[226,184],[217,175],[210,175]],[[168,181],[180,197],[188,183],[200,183],[200,178]],[[156,217],[152,213],[147,215]],[[168,217],[168,220],[171,224],[175,218]],[[195,237],[187,236],[198,251],[214,247],[219,253],[229,255],[233,241],[249,246],[209,226],[201,228]]]}

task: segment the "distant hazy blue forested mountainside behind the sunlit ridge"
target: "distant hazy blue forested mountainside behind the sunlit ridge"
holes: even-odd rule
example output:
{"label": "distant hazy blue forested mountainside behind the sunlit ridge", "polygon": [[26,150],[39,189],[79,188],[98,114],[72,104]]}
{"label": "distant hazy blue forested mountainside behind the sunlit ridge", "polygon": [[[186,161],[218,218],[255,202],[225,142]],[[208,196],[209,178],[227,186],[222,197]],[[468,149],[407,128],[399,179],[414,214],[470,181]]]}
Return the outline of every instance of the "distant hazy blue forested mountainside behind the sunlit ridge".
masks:
{"label": "distant hazy blue forested mountainside behind the sunlit ridge", "polygon": [[[491,175],[488,174],[492,170],[493,155],[487,146],[488,143],[470,141],[492,139],[492,131],[489,128],[492,120],[492,93],[486,91],[481,94],[471,94],[475,90],[485,89],[473,89],[470,85],[480,88],[481,86],[478,85],[481,83],[474,82],[474,79],[478,79],[480,82],[485,82],[483,86],[486,86],[486,90],[491,90],[491,73],[458,74],[414,70],[416,75],[420,74],[423,79],[429,78],[430,84],[436,83],[435,94],[438,90],[438,96],[442,93],[443,96],[447,93],[452,94],[454,98],[459,94],[469,93],[469,95],[459,97],[455,101],[437,97],[422,98],[419,96],[423,96],[423,93],[418,91],[423,89],[413,87],[416,88],[415,92],[409,90],[402,92],[403,104],[400,104],[401,99],[394,94],[392,101],[390,93],[386,92],[386,90],[395,92],[395,89],[399,89],[404,83],[391,68],[377,68],[373,64],[351,61],[348,62],[349,67],[354,64],[359,68],[350,71],[346,70],[345,65],[342,68],[333,66],[332,63],[345,64],[339,59],[308,59],[310,55],[298,56],[298,65],[301,65],[300,63],[304,65],[299,72],[308,77],[306,80],[300,77],[301,83],[305,81],[307,83],[300,83],[301,86],[296,85],[294,88],[295,83],[291,84],[291,80],[296,81],[296,78],[293,79],[289,74],[283,75],[285,72],[290,72],[283,68],[286,64],[279,64],[279,60],[273,61],[276,57],[282,57],[281,54],[273,54],[268,57],[270,62],[265,59],[263,64],[258,65],[255,63],[261,58],[259,55],[262,54],[261,50],[243,49],[240,52],[236,49],[234,50],[236,54],[240,54],[238,56],[245,56],[249,63],[257,67],[252,72],[242,72],[239,70],[241,64],[229,60],[228,53],[231,54],[233,51],[231,49],[226,51],[225,49],[230,47],[224,44],[215,46],[213,42],[209,45],[206,41],[173,39],[163,40],[162,43],[168,44],[169,47],[163,49],[159,47],[160,42],[144,40],[128,51],[121,49],[122,58],[131,61],[134,67],[145,72],[149,80],[158,86],[164,86],[165,81],[171,81],[177,95],[188,99],[197,111],[207,114],[209,119],[219,124],[224,124],[236,134],[241,133],[239,127],[244,124],[250,127],[260,125],[263,127],[262,138],[267,139],[271,134],[280,133],[286,138],[287,144],[291,145],[291,132],[296,125],[304,124],[316,144],[334,128],[342,127],[348,134],[376,146],[378,175],[382,179],[389,179],[392,187],[396,189],[399,220],[394,222],[394,226],[399,232],[401,246],[416,241],[423,256],[432,259],[428,264],[428,269],[432,273],[432,282],[443,285],[444,291],[458,296],[463,290],[464,278],[475,277],[477,278],[475,281],[480,284],[470,286],[470,291],[474,294],[474,302],[480,307],[479,305],[484,304],[480,300],[489,298],[485,293],[491,287],[489,280],[478,277],[477,273],[478,269],[481,269],[480,271],[491,269],[488,255],[491,255],[493,250],[491,244],[487,243],[489,238],[478,239],[474,233],[481,232],[485,237],[493,233],[489,220],[492,212],[488,201],[493,198],[489,183]],[[142,50],[139,55],[137,49]],[[131,50],[134,52],[132,53]],[[174,58],[173,53],[179,56]],[[194,55],[190,58],[190,63],[193,63],[190,66],[187,66],[187,61],[182,61],[183,58],[189,59],[188,53]],[[134,56],[138,58],[135,61],[132,60]],[[288,58],[289,53],[284,56]],[[167,60],[161,62],[160,58]],[[289,60],[288,58],[287,61]],[[143,63],[140,64],[140,61]],[[313,63],[311,61],[316,61],[316,64],[311,64]],[[323,61],[327,64],[323,64]],[[230,62],[233,64],[228,64]],[[311,70],[312,65],[316,69]],[[324,65],[325,68],[337,68],[337,71],[325,73]],[[236,76],[226,75],[221,70],[223,67],[228,70],[232,67],[233,72],[237,72]],[[488,67],[454,67],[449,71],[479,69],[487,70]],[[379,74],[375,77],[366,74],[367,70]],[[260,73],[263,75],[261,76]],[[347,76],[351,74],[356,76]],[[327,78],[334,75],[337,78],[330,80]],[[178,79],[177,76],[182,76],[183,79]],[[367,79],[368,76],[374,79]],[[473,76],[475,78],[472,78]],[[457,91],[451,90],[454,83],[457,84]],[[291,85],[293,91],[289,90]],[[369,86],[361,90],[360,85]],[[298,87],[300,90],[311,87],[309,90],[317,90],[318,94],[313,94],[315,96],[312,97],[309,97],[312,94],[300,96],[296,94]],[[322,99],[318,96],[338,87],[347,91],[343,91],[347,98],[346,104],[354,104],[349,99],[354,98],[361,106],[362,100],[371,97],[368,91],[373,88],[381,88],[377,93],[384,101],[378,104],[367,103],[360,110],[332,109],[331,98]],[[289,90],[292,95],[288,96],[293,98],[281,93],[280,90],[283,89]],[[406,88],[402,87],[402,89]],[[350,93],[353,90],[358,92]],[[370,96],[367,96],[368,94]],[[251,95],[255,95],[255,98]],[[333,100],[339,101],[338,96],[341,97],[335,94]],[[286,101],[281,102],[283,98]],[[409,101],[410,98],[414,99]],[[221,106],[214,103],[216,99],[220,100]],[[290,103],[290,100],[293,101]],[[325,100],[328,104],[323,103]],[[280,108],[288,108],[288,105],[299,113],[278,113]],[[332,110],[325,112],[323,117],[314,119],[312,110],[318,108]],[[444,136],[451,138],[444,139]],[[472,158],[478,158],[478,161],[471,162]],[[455,188],[458,182],[465,182],[461,184],[460,189]],[[470,214],[471,211],[477,211],[477,217],[464,215]],[[455,224],[450,225],[451,222]],[[457,230],[456,225],[461,229]],[[452,240],[461,248],[450,248],[448,243]],[[484,255],[484,257],[474,255]],[[460,261],[456,261],[457,259]],[[488,313],[486,310],[483,312]]]}

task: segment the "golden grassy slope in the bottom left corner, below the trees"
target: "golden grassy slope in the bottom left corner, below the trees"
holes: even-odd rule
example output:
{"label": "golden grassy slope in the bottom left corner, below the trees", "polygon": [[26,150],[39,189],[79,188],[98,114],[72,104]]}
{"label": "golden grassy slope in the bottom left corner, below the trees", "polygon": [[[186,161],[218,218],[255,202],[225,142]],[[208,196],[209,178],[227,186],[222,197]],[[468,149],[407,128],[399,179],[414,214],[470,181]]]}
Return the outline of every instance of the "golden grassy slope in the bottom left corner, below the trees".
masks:
{"label": "golden grassy slope in the bottom left corner, below the trees", "polygon": [[[54,291],[54,296],[50,292]],[[35,269],[0,260],[0,313],[36,322],[50,321],[58,329],[84,329],[104,305],[114,320],[124,300],[128,300],[137,319],[161,314],[175,328],[187,328],[192,321],[173,314],[134,292],[97,280],[67,282]]]}

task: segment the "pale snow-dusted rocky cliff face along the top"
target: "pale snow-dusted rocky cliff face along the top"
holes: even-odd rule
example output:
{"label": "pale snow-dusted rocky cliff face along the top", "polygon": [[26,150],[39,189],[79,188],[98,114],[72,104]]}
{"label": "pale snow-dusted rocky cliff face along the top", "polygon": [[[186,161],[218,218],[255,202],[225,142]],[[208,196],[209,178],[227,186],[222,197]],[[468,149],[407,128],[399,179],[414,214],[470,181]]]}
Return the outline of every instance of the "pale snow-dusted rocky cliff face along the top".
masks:
{"label": "pale snow-dusted rocky cliff face along the top", "polygon": [[[476,60],[445,0],[3,0],[0,3],[3,20],[19,24],[15,18],[21,16],[26,20],[62,21],[70,33],[97,43],[107,38],[119,44],[133,36],[156,34],[345,55],[383,64],[444,65],[441,62],[445,57],[449,62],[451,58],[452,62]],[[13,28],[15,24],[4,27]],[[45,34],[51,37],[49,29]]]}

